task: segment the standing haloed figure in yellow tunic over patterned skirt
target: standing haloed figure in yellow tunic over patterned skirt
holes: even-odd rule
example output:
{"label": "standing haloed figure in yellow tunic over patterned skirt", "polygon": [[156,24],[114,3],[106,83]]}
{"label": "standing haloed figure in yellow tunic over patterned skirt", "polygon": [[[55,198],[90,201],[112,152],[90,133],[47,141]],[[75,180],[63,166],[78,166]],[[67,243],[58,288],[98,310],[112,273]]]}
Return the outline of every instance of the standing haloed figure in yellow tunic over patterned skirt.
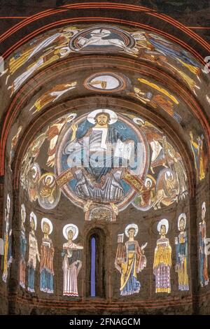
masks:
{"label": "standing haloed figure in yellow tunic over patterned skirt", "polygon": [[153,263],[155,274],[155,293],[171,293],[172,248],[166,235],[169,230],[169,222],[162,219],[158,223],[158,232],[161,237],[157,241]]}

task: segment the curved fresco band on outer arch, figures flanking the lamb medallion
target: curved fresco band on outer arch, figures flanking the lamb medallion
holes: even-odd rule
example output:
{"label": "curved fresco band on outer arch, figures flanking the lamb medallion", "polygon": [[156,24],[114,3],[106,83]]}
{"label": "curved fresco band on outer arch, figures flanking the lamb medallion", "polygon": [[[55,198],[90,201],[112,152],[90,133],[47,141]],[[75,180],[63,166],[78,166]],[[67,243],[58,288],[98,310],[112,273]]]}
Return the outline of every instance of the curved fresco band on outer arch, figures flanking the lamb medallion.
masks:
{"label": "curved fresco band on outer arch, figures flanking the lamb medallion", "polygon": [[62,27],[35,38],[10,57],[1,73],[13,95],[37,71],[71,53],[124,52],[134,58],[158,64],[179,76],[197,94],[201,87],[202,66],[179,45],[144,30],[126,31],[111,25]]}

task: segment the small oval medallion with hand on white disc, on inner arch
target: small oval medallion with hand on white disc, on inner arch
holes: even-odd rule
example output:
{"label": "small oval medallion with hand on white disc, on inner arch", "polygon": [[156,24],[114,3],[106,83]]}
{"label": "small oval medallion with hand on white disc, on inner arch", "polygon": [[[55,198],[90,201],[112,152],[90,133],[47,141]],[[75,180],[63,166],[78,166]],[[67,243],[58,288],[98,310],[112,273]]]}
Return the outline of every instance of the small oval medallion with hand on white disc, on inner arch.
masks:
{"label": "small oval medallion with hand on white disc, on inner arch", "polygon": [[127,87],[127,79],[110,72],[95,73],[85,80],[84,87],[97,92],[119,92]]}

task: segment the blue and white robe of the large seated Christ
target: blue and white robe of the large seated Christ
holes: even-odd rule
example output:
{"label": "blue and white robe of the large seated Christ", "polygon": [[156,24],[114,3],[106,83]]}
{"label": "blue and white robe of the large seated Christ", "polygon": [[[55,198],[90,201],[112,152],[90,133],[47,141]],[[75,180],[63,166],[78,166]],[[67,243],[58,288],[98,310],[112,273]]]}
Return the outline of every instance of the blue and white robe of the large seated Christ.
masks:
{"label": "blue and white robe of the large seated Christ", "polygon": [[120,180],[125,158],[116,150],[119,144],[129,148],[130,141],[115,127],[90,127],[66,145],[64,154],[69,155],[68,166],[77,167],[74,159],[79,159],[83,166],[75,172],[75,192],[79,197],[104,202],[122,200],[124,190]]}

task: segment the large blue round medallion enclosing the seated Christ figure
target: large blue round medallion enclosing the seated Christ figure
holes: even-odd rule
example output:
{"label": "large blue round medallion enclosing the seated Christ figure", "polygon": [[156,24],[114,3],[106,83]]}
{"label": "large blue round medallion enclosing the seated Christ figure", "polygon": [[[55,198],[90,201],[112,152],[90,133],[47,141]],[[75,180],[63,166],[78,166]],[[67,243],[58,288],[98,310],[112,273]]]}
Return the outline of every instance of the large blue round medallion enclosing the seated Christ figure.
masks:
{"label": "large blue round medallion enclosing the seated Christ figure", "polygon": [[132,120],[97,109],[66,127],[55,158],[57,183],[71,202],[122,210],[146,177],[148,144]]}

